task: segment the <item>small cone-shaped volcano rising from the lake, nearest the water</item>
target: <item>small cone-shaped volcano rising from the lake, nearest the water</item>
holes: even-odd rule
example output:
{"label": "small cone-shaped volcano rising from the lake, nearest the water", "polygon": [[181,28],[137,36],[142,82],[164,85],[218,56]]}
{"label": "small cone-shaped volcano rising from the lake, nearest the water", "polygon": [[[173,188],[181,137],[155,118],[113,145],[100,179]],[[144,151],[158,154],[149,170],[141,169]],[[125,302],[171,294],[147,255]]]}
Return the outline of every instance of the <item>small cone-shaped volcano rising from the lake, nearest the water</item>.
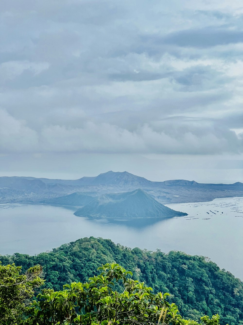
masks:
{"label": "small cone-shaped volcano rising from the lake, nearest the water", "polygon": [[88,218],[168,218],[187,215],[159,203],[142,189],[103,194],[78,209],[75,215]]}

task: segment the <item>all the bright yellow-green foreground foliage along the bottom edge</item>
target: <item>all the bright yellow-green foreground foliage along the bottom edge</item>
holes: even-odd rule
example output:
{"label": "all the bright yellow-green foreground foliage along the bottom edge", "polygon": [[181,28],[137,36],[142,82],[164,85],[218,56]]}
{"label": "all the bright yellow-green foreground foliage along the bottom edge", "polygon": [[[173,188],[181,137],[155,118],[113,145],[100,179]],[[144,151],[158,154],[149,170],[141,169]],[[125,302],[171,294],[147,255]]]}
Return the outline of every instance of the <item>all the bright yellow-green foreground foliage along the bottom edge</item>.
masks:
{"label": "all the bright yellow-green foreground foliage along the bottom edge", "polygon": [[[25,275],[20,275],[20,267],[14,264],[0,266],[0,288],[4,289],[0,296],[3,309],[0,324],[155,325],[162,322],[199,325],[194,320],[181,317],[177,306],[166,300],[168,293],[152,293],[152,288],[131,279],[132,272],[122,266],[108,263],[98,270],[101,274],[89,278],[88,282],[72,282],[58,292],[43,289],[37,299],[28,302],[27,298],[34,294],[33,287],[43,282],[39,278],[41,267],[34,266]],[[112,290],[114,283],[118,282],[122,285],[122,292]],[[9,313],[8,304],[12,313]],[[214,315],[212,319],[204,316],[201,324],[217,325],[219,315]]]}

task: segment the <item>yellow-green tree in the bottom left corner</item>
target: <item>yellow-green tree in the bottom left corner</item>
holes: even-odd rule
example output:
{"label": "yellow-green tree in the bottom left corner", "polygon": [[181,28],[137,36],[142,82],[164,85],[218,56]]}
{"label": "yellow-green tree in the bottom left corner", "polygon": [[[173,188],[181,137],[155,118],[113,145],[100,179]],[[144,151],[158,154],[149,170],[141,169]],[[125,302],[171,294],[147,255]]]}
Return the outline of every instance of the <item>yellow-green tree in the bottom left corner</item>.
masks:
{"label": "yellow-green tree in the bottom left corner", "polygon": [[44,280],[41,266],[33,266],[21,274],[21,266],[0,264],[0,324],[28,324],[28,300]]}

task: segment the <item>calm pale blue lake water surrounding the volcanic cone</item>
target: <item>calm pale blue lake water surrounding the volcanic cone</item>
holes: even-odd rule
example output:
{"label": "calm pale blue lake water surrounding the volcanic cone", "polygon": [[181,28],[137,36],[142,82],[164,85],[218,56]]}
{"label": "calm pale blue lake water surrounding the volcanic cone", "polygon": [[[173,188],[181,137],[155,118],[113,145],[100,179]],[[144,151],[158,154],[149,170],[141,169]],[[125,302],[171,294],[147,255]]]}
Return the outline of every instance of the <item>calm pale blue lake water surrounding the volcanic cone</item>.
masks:
{"label": "calm pale blue lake water surrounding the volcanic cone", "polygon": [[208,256],[243,279],[243,198],[168,206],[189,215],[167,220],[92,221],[62,207],[0,204],[0,254],[35,254],[94,236],[128,247]]}

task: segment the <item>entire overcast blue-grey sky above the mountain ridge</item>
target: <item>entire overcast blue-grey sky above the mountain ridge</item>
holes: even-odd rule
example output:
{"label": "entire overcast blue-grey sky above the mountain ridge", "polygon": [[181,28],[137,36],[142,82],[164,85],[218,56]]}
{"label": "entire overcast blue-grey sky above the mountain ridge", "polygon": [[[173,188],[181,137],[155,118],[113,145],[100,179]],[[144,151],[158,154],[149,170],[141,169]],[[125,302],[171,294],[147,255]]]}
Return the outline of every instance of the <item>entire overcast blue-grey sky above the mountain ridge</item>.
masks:
{"label": "entire overcast blue-grey sky above the mountain ridge", "polygon": [[243,182],[241,0],[1,0],[0,176]]}

